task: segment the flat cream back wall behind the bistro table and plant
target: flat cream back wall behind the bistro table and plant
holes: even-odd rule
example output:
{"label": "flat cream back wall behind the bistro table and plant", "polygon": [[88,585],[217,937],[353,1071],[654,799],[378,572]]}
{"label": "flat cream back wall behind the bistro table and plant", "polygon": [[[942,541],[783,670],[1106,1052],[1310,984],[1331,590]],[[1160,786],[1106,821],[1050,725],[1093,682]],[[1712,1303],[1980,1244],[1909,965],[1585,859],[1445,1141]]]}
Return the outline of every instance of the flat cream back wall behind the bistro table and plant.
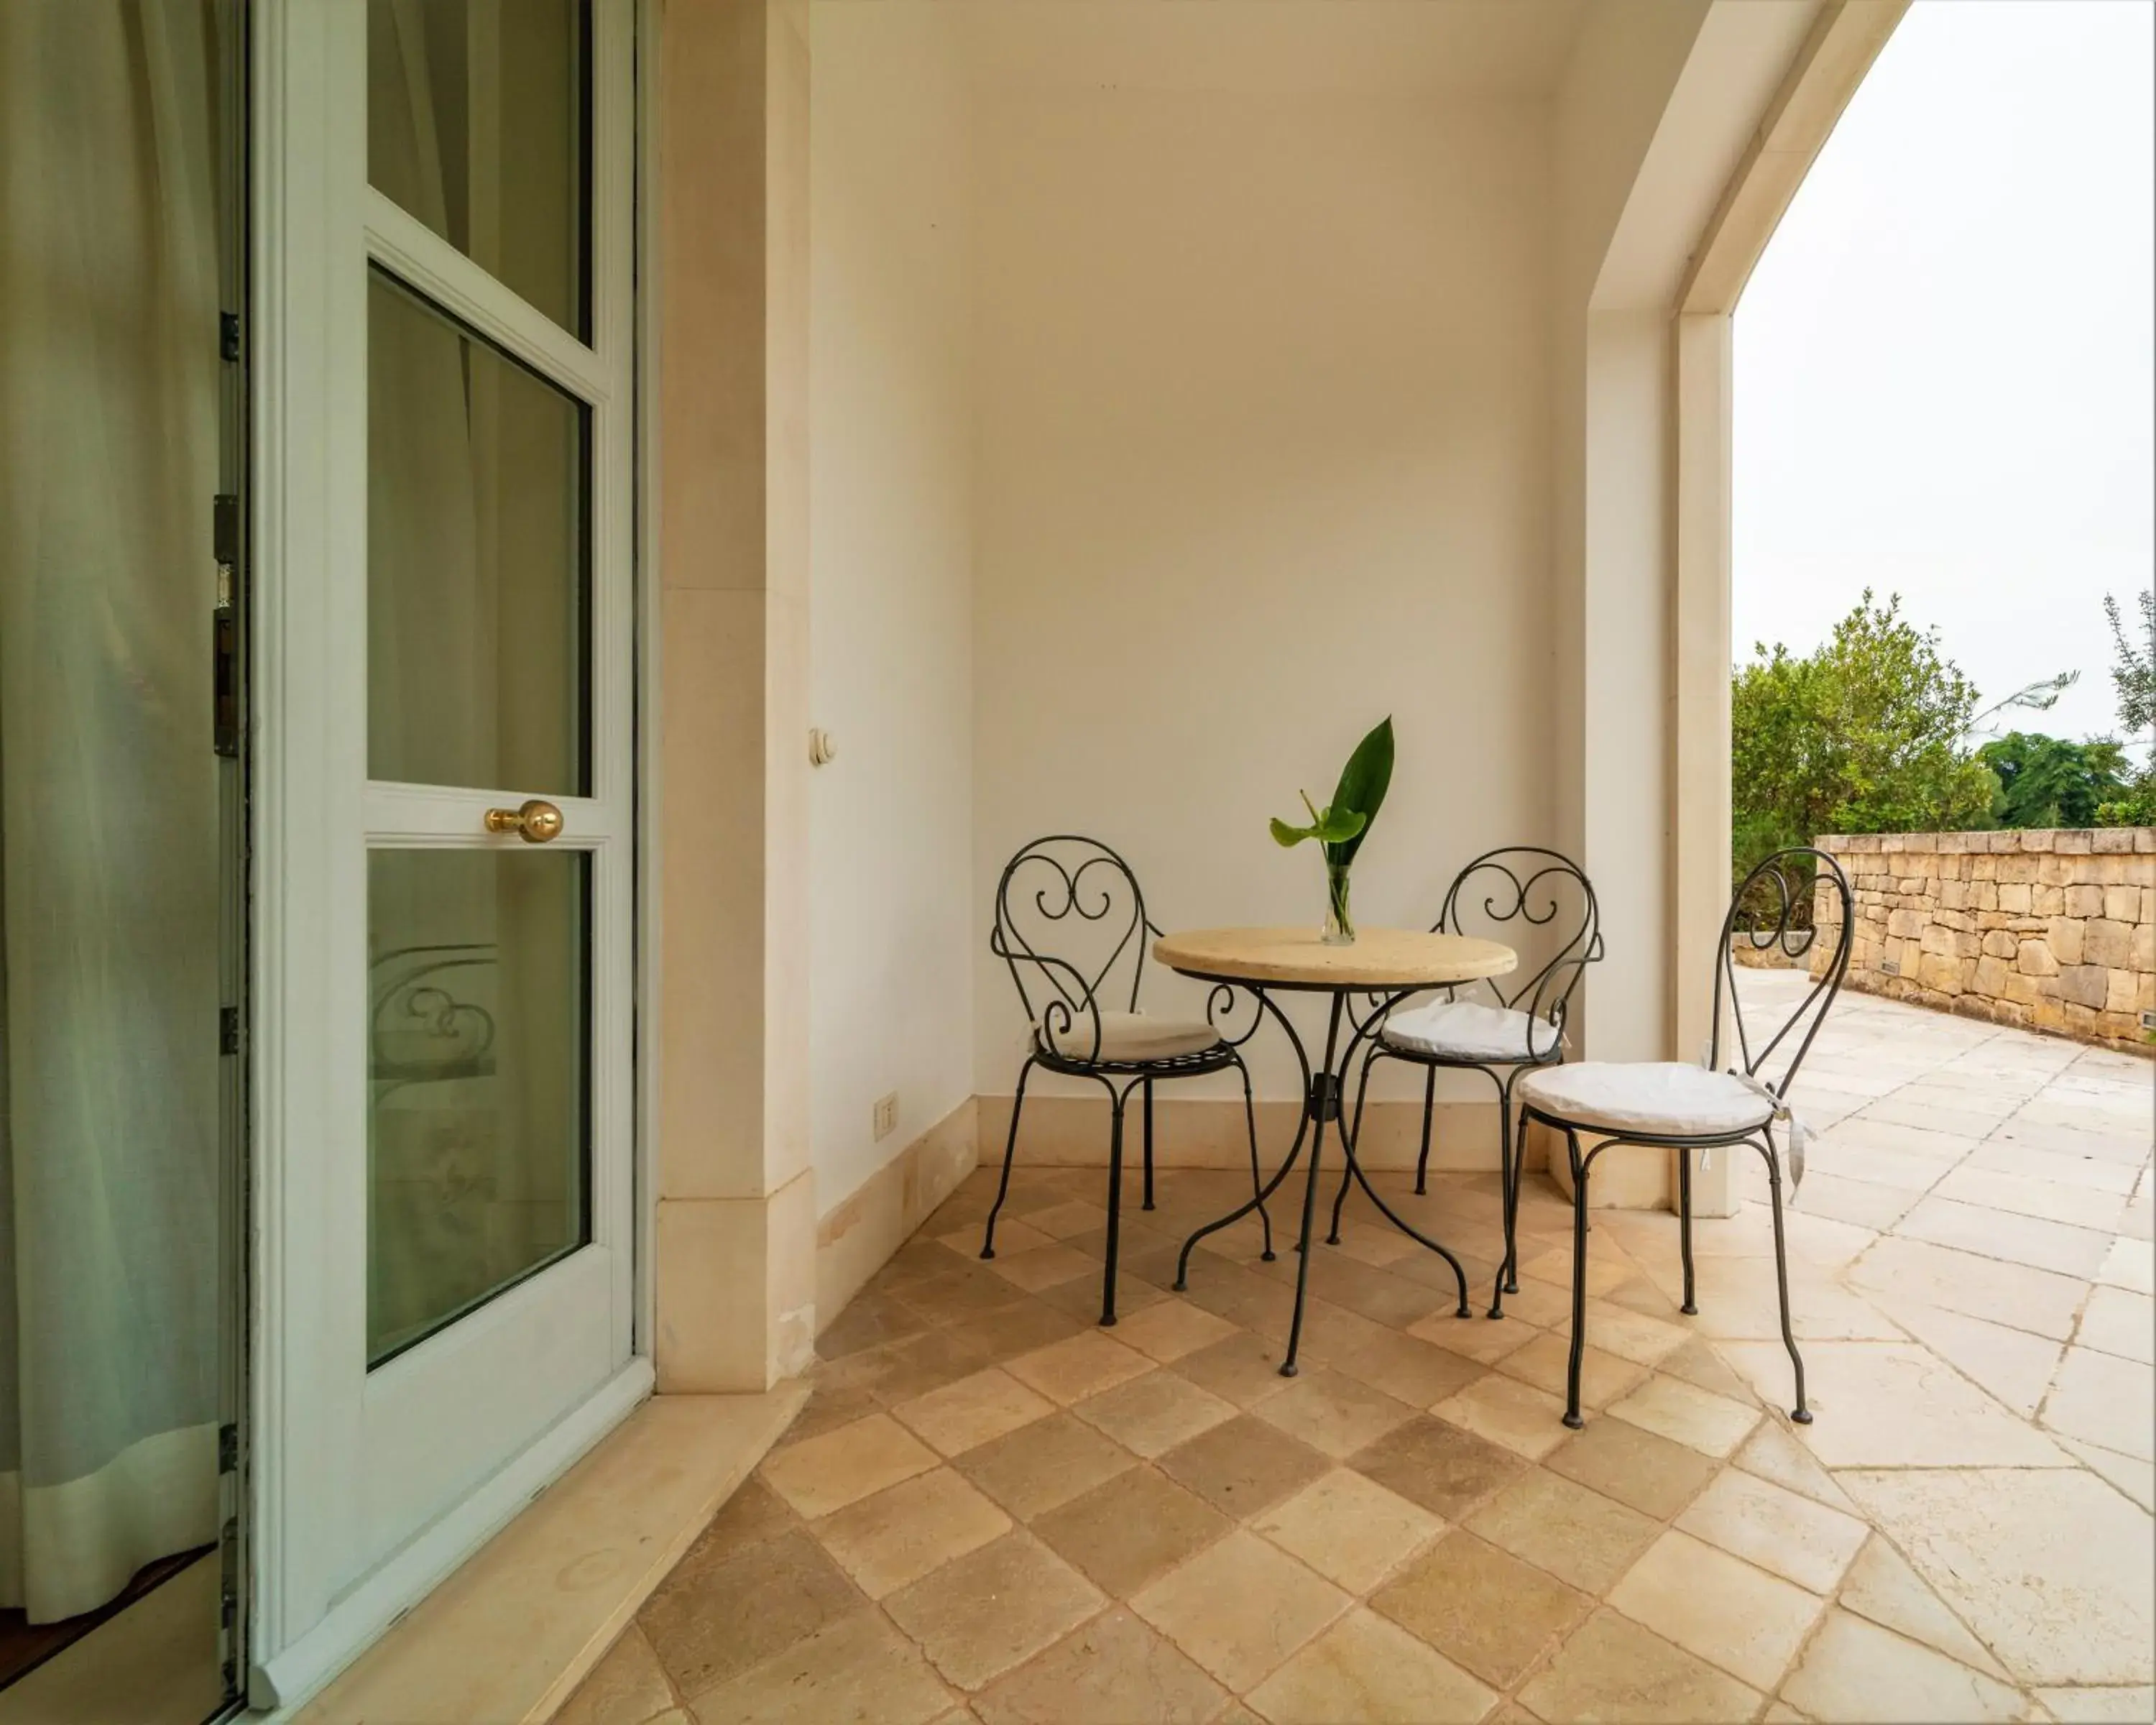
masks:
{"label": "flat cream back wall behind the bistro table and plant", "polygon": [[[1554,837],[1546,151],[1533,99],[979,93],[983,932],[1050,830],[1123,850],[1171,927],[1315,925],[1317,852],[1266,819],[1388,712],[1363,921]],[[1024,1020],[975,964],[1009,1093]]]}

